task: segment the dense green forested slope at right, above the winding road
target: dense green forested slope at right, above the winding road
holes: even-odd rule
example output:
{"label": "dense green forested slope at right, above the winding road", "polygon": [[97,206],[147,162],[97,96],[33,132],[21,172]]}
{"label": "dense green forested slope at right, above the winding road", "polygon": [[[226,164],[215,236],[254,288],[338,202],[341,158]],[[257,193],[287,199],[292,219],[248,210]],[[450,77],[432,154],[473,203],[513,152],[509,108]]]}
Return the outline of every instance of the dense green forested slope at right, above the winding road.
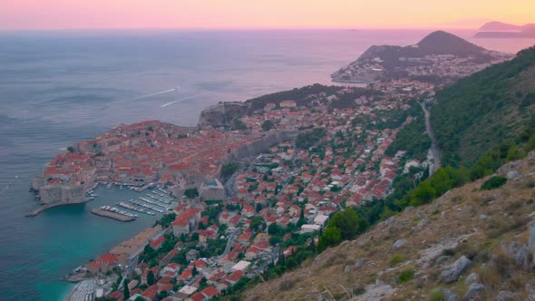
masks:
{"label": "dense green forested slope at right, above the winding road", "polygon": [[535,47],[446,87],[436,102],[431,121],[445,164],[471,165],[493,146],[522,139],[535,127]]}

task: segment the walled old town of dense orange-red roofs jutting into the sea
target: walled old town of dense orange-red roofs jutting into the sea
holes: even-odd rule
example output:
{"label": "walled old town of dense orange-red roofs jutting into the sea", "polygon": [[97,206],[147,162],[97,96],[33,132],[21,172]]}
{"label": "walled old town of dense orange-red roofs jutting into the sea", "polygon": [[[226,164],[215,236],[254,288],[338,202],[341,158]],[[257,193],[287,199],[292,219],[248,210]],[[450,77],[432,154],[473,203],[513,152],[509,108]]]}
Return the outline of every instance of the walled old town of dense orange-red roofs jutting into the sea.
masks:
{"label": "walled old town of dense orange-red roofs jutting into the sea", "polygon": [[[221,104],[222,106],[224,104]],[[90,141],[75,143],[58,154],[34,178],[32,189],[43,206],[34,216],[54,206],[86,202],[97,183],[118,183],[145,189],[169,187],[175,196],[203,180],[218,178],[221,164],[267,150],[292,133],[252,133],[190,129],[160,121],[121,124]],[[197,185],[199,186],[199,185]]]}

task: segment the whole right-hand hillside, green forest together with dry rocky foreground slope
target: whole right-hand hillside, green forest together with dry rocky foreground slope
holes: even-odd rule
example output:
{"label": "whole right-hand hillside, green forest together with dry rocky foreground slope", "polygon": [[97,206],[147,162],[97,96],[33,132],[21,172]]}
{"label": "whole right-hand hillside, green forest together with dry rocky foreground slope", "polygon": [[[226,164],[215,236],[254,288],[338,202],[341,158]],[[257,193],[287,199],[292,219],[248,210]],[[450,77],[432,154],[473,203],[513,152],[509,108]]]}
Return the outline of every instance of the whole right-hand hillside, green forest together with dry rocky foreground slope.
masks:
{"label": "whole right-hand hillside, green forest together with dry rocky foreground slope", "polygon": [[[337,212],[308,250],[315,259],[262,278],[245,296],[535,300],[535,241],[525,247],[535,217],[533,63],[535,48],[438,92],[444,167],[421,181],[398,177],[388,198]],[[422,131],[421,122],[406,127],[389,152]],[[405,150],[422,153],[428,141],[418,141]]]}

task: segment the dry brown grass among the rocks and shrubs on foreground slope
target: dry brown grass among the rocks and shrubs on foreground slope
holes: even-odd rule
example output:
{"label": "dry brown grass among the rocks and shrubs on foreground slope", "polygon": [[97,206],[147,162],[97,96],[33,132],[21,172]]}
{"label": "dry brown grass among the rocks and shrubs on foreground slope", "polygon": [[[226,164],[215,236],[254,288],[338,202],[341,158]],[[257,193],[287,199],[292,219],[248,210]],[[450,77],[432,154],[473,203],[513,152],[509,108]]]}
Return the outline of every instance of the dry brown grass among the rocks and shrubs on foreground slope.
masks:
{"label": "dry brown grass among the rocks and shrubs on foreground slope", "polygon": [[[522,175],[533,173],[535,164],[524,163],[519,171]],[[414,276],[413,280],[405,283],[398,283],[397,280],[400,273],[409,268],[402,267],[403,262],[418,259],[424,249],[445,238],[466,233],[473,234],[468,241],[441,254],[451,256],[444,264],[462,255],[472,258],[472,267],[463,276],[478,273],[480,281],[486,286],[486,299],[492,299],[500,290],[523,292],[527,283],[535,284],[535,275],[517,267],[511,257],[501,250],[501,242],[527,242],[528,216],[535,211],[535,177],[510,181],[500,189],[491,191],[479,190],[483,181],[453,189],[440,199],[440,205],[430,204],[400,213],[390,228],[372,228],[365,238],[359,239],[364,241],[364,245],[348,242],[327,250],[326,254],[286,275],[284,284],[281,278],[269,281],[272,287],[279,288],[275,297],[270,295],[266,285],[261,284],[246,292],[244,298],[255,301],[305,300],[316,299],[324,292],[324,298],[329,298],[330,294],[338,300],[345,300],[361,295],[363,287],[375,283],[377,279],[397,289],[395,295],[387,298],[389,300],[425,300],[436,287],[449,288],[463,296],[467,289],[463,280],[451,285],[444,284],[439,265],[432,264],[424,269],[411,267],[422,276]],[[480,215],[488,218],[480,219]],[[428,223],[421,229],[413,230],[422,218],[427,219]],[[407,245],[394,252],[392,244],[400,238],[407,239]],[[366,260],[365,267],[344,272],[346,265],[354,264],[361,257]],[[399,268],[389,270],[392,267]],[[326,290],[329,294],[325,293]]]}

